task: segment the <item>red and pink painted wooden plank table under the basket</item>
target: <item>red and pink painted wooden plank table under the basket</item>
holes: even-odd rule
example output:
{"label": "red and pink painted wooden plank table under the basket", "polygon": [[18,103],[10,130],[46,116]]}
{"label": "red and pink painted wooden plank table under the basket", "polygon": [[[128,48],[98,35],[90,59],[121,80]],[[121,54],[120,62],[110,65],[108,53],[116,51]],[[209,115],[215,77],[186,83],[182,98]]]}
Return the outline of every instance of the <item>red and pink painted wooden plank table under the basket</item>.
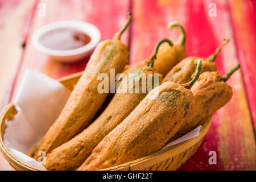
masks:
{"label": "red and pink painted wooden plank table under the basket", "polygon": [[[39,16],[39,3],[46,16]],[[209,11],[216,5],[216,16]],[[89,58],[74,64],[60,64],[36,51],[31,35],[56,20],[84,20],[96,25],[102,38],[112,38],[127,18],[133,22],[122,36],[130,49],[130,64],[141,61],[162,38],[175,41],[179,32],[167,30],[177,20],[187,33],[187,55],[209,56],[225,37],[230,43],[217,57],[223,75],[237,63],[241,69],[230,78],[233,98],[213,115],[212,126],[199,150],[180,170],[256,169],[256,1],[253,0],[55,0],[0,1],[0,102],[1,110],[13,100],[24,69],[32,68],[59,78],[82,71]],[[209,151],[217,152],[217,164],[210,165]],[[0,169],[12,169],[0,156]]]}

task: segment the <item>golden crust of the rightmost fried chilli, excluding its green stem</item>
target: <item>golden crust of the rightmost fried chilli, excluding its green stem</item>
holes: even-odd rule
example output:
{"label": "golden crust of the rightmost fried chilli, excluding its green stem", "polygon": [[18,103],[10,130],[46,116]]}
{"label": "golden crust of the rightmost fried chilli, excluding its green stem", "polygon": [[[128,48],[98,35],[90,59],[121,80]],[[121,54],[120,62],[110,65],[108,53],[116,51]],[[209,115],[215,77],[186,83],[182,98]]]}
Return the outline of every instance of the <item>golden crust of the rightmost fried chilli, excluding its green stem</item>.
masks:
{"label": "golden crust of the rightmost fried chilli, excluding its green stem", "polygon": [[212,114],[229,102],[233,94],[231,86],[221,81],[217,72],[202,73],[191,91],[196,98],[195,110],[171,140],[181,137],[208,121]]}

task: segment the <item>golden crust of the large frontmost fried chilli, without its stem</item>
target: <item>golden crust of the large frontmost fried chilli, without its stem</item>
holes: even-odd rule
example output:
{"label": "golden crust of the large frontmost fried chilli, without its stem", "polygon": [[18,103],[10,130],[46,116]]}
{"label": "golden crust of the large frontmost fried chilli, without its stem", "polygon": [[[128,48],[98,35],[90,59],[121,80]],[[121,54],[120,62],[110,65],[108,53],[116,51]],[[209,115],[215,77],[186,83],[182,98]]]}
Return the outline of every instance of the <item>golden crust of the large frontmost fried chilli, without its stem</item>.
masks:
{"label": "golden crust of the large frontmost fried chilli, without its stem", "polygon": [[195,98],[190,90],[165,82],[151,90],[106,135],[78,170],[108,168],[158,151],[179,130],[194,106]]}

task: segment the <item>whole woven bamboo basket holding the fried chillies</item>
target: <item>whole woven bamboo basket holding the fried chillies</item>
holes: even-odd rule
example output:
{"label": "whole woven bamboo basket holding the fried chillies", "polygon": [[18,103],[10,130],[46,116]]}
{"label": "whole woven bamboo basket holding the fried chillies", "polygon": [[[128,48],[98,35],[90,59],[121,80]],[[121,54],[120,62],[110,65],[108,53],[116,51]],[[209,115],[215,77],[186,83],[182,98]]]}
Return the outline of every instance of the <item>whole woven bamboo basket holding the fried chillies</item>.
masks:
{"label": "whole woven bamboo basket holding the fried chillies", "polygon": [[[68,89],[73,89],[73,86],[79,80],[80,76],[81,72],[60,78],[59,81]],[[19,160],[15,159],[3,143],[3,134],[5,133],[6,123],[7,121],[13,119],[15,114],[15,107],[13,103],[10,103],[6,106],[6,108],[2,111],[0,115],[0,150],[7,162],[9,162],[10,165],[16,170],[37,171],[39,169],[28,166],[27,164],[24,164]],[[207,134],[209,130],[210,123],[211,121],[205,122],[205,124],[201,127],[200,135],[198,137],[189,139],[179,144],[175,144],[171,147],[164,148],[163,150],[157,151],[154,154],[147,155],[141,159],[137,159],[132,162],[121,164],[119,166],[107,168],[104,170],[176,170],[182,164],[184,164],[191,157],[192,154],[196,152],[197,148],[203,141],[205,134]]]}

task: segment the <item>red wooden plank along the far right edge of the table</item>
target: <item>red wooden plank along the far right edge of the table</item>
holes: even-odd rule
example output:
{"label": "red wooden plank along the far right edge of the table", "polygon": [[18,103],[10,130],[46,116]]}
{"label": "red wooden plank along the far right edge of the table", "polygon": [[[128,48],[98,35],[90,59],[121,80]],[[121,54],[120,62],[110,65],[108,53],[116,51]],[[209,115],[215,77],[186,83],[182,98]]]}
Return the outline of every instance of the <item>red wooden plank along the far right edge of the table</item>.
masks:
{"label": "red wooden plank along the far right edge of the table", "polygon": [[237,53],[242,65],[243,81],[250,105],[256,133],[256,2],[230,1],[230,11],[237,43]]}

